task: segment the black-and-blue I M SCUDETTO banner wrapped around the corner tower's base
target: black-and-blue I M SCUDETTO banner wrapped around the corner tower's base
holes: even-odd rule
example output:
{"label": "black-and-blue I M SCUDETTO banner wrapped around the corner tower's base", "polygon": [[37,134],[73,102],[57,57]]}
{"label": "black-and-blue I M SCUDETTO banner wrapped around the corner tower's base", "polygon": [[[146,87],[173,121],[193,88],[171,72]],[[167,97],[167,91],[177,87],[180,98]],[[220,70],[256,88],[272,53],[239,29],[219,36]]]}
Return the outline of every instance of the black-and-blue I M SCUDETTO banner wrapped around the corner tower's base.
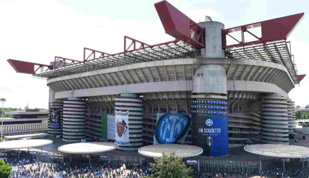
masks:
{"label": "black-and-blue I M SCUDETTO banner wrapped around the corner tower's base", "polygon": [[225,156],[229,154],[226,116],[194,115],[192,125],[192,143],[203,148],[203,155]]}

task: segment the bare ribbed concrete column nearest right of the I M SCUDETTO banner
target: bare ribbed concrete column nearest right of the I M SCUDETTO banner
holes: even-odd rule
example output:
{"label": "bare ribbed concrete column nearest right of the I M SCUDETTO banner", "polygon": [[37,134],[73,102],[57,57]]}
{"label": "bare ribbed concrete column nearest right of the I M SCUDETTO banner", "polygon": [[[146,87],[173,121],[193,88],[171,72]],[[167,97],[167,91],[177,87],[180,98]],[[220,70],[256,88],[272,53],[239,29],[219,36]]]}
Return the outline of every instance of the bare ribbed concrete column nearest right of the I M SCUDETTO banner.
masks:
{"label": "bare ribbed concrete column nearest right of the I M SCUDETTO banner", "polygon": [[287,101],[281,94],[261,97],[262,141],[270,144],[289,144]]}

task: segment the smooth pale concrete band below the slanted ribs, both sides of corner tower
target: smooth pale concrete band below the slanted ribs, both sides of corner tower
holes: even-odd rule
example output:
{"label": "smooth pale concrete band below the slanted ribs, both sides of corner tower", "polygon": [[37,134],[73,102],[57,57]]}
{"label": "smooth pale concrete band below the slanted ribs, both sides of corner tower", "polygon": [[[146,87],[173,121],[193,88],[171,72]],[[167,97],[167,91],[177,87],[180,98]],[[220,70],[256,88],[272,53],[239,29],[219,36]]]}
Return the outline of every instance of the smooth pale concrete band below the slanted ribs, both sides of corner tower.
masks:
{"label": "smooth pale concrete band below the slanted ribs, both sides of corner tower", "polygon": [[[55,99],[65,99],[68,97],[88,97],[100,95],[120,95],[121,93],[150,93],[150,92],[169,92],[169,91],[193,91],[192,80],[135,83],[129,85],[87,88],[70,91],[60,91],[55,93]],[[261,93],[281,93],[283,96],[288,94],[277,85],[266,82],[228,80],[227,91],[252,91]]]}

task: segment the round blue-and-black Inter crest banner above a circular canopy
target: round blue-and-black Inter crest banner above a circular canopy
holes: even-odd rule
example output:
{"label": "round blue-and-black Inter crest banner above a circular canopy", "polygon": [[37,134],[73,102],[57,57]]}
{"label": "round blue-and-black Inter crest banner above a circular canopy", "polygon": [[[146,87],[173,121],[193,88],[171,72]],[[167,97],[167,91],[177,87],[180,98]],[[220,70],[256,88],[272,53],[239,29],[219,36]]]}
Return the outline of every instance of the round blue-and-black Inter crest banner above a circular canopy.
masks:
{"label": "round blue-and-black Inter crest banner above a circular canopy", "polygon": [[154,144],[184,144],[190,127],[191,118],[188,115],[157,115]]}

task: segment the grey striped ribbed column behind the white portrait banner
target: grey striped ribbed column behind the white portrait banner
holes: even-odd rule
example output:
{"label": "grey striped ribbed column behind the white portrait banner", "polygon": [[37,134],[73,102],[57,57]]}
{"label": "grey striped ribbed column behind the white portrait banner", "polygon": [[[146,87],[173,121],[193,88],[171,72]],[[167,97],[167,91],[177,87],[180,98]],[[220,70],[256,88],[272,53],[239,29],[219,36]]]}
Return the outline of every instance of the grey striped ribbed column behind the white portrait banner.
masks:
{"label": "grey striped ribbed column behind the white portrait banner", "polygon": [[[115,111],[129,111],[129,145],[119,145],[119,150],[138,150],[143,145],[143,100],[136,94],[116,97]],[[116,140],[117,141],[117,140]]]}

